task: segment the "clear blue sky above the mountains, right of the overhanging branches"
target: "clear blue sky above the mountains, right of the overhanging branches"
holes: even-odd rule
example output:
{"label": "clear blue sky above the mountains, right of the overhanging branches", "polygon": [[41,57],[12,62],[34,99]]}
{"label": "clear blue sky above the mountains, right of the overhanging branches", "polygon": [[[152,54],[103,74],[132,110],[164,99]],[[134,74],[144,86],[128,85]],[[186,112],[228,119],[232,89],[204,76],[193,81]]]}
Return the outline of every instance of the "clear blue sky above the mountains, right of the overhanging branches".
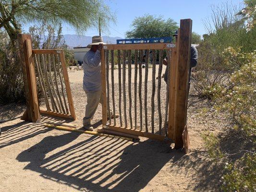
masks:
{"label": "clear blue sky above the mountains, right of the overhanging branches", "polygon": [[[112,12],[116,13],[116,24],[110,24],[109,32],[102,35],[125,37],[135,17],[144,14],[162,15],[179,24],[180,19],[192,19],[192,31],[206,33],[203,20],[211,16],[211,6],[229,2],[239,5],[243,0],[104,0]],[[27,27],[24,28],[25,30]],[[76,34],[72,26],[63,24],[63,34]],[[89,29],[83,35],[98,35],[98,29]]]}

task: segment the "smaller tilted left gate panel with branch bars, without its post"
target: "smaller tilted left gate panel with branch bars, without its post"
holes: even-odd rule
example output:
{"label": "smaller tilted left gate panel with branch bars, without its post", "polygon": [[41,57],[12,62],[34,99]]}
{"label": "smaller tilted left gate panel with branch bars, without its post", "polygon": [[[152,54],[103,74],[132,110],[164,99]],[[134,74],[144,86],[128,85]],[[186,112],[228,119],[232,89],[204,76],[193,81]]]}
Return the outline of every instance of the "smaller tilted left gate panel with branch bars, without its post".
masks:
{"label": "smaller tilted left gate panel with branch bars, without its post", "polygon": [[73,98],[62,49],[33,49],[39,88],[45,108],[40,113],[75,120]]}

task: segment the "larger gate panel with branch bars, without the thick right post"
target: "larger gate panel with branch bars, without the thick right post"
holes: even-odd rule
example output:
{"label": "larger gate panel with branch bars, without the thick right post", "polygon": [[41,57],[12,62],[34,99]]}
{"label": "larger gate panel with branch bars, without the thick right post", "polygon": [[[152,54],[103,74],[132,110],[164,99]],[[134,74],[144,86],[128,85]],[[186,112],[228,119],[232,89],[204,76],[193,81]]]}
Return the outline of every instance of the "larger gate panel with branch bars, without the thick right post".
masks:
{"label": "larger gate panel with branch bars, without the thick right post", "polygon": [[[162,141],[168,132],[170,56],[174,44],[135,47],[138,49],[131,45],[105,45],[101,50],[103,127]],[[162,78],[165,56],[169,61],[167,84]],[[107,111],[112,109],[116,114],[116,107],[120,117],[111,120]]]}

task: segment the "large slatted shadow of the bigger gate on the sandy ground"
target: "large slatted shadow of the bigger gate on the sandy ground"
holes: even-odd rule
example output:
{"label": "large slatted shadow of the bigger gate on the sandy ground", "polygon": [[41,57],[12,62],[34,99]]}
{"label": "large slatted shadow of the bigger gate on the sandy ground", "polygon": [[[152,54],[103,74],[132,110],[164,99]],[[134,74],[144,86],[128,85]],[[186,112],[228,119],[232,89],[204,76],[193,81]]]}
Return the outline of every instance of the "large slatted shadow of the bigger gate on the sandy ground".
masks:
{"label": "large slatted shadow of the bigger gate on the sandy ground", "polygon": [[[183,152],[172,150],[168,144],[151,140],[132,143],[116,138],[92,136],[77,142],[79,135],[68,132],[45,137],[19,154],[16,159],[30,162],[24,169],[36,171],[46,179],[81,191],[137,192],[168,162],[180,169],[185,166],[183,170],[198,168],[197,171],[202,173],[199,174],[202,176],[199,179],[202,185],[197,189],[208,189],[212,185],[211,179],[207,177],[209,163],[200,163],[204,161],[200,153],[186,156]],[[199,167],[196,167],[198,164]],[[175,169],[177,174],[179,168]],[[175,173],[172,166],[167,172]]]}

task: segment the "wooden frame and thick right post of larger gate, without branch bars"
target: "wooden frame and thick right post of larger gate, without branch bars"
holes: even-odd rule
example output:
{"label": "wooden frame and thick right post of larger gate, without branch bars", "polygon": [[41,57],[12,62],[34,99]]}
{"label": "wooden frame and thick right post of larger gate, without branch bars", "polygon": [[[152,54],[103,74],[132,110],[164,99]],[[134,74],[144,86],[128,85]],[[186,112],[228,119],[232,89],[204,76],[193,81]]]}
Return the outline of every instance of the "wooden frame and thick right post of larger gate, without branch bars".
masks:
{"label": "wooden frame and thick right post of larger gate, without branch bars", "polygon": [[[169,91],[169,118],[168,118],[168,138],[175,142],[175,148],[183,147],[183,138],[187,149],[188,132],[187,123],[187,100],[188,100],[188,80],[190,70],[190,50],[191,50],[192,20],[182,19],[180,21],[178,42],[176,47],[171,48],[171,78]],[[101,84],[102,84],[102,126],[117,132],[124,132],[143,136],[155,140],[163,141],[164,135],[152,134],[134,129],[122,128],[107,125],[107,90],[106,90],[106,59],[105,50],[129,50],[129,49],[167,49],[167,43],[149,44],[113,44],[104,45],[101,50]]]}

